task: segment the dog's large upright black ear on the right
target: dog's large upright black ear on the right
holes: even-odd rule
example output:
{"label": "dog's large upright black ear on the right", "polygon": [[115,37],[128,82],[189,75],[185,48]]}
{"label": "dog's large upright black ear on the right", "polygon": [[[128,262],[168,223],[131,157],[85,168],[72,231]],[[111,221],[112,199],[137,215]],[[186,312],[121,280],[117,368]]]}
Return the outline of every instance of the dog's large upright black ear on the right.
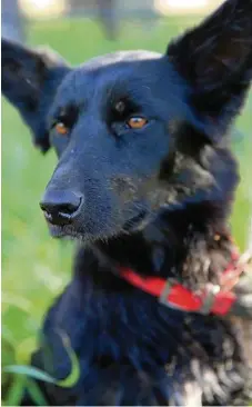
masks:
{"label": "dog's large upright black ear on the right", "polygon": [[252,79],[252,0],[228,0],[167,50],[198,113],[226,128]]}

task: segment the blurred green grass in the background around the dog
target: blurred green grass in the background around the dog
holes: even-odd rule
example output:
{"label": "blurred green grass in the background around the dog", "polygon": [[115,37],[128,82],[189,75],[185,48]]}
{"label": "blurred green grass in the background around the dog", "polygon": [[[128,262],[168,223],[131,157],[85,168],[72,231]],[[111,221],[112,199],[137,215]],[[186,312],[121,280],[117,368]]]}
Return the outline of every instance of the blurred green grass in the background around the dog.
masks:
{"label": "blurred green grass in the background around the dog", "polygon": [[[118,49],[145,48],[163,51],[169,38],[181,32],[191,19],[162,20],[143,28],[125,23],[115,42],[104,40],[90,20],[63,20],[31,24],[29,43],[49,44],[71,63]],[[169,91],[169,90],[168,90]],[[252,196],[251,178],[252,96],[238,128],[246,135],[234,141],[242,182],[232,218],[234,236],[243,248]],[[2,364],[26,364],[36,346],[41,318],[71,275],[71,242],[52,240],[39,208],[39,200],[52,173],[56,156],[46,157],[31,146],[29,131],[18,113],[2,103]],[[3,383],[8,376],[3,375]],[[7,405],[18,404],[23,384],[10,389]]]}

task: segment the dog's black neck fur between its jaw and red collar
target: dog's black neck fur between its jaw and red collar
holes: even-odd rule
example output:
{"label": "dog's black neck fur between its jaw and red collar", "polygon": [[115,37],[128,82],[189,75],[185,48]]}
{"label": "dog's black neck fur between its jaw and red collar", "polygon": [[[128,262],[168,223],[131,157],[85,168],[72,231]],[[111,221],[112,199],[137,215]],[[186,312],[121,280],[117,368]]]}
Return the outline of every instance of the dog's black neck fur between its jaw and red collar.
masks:
{"label": "dog's black neck fur between its jaw and red collar", "polygon": [[[175,278],[196,289],[216,282],[231,259],[226,202],[164,210],[144,230],[99,242],[100,260],[144,276]],[[223,209],[225,208],[225,210]]]}

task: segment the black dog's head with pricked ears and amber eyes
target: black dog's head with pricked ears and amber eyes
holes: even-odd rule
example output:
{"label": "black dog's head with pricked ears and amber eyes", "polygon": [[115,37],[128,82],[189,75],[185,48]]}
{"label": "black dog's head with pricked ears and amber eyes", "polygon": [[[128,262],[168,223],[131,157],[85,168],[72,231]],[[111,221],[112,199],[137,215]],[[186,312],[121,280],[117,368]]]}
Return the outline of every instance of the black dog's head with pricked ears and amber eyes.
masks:
{"label": "black dog's head with pricked ears and amber eyes", "polygon": [[109,238],[162,208],[230,193],[224,145],[252,77],[251,0],[226,1],[165,54],[117,52],[72,69],[4,41],[2,56],[3,93],[59,156],[41,201],[56,235]]}

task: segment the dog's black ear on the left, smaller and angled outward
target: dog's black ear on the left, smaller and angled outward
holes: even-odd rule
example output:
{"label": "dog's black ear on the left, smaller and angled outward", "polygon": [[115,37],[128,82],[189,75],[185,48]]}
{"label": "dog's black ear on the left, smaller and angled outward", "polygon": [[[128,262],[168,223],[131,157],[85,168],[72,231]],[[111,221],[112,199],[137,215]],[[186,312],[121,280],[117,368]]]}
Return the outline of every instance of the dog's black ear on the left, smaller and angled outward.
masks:
{"label": "dog's black ear on the left, smaller and angled outward", "polygon": [[2,93],[19,110],[43,152],[50,147],[47,113],[69,70],[52,51],[32,51],[2,39]]}

